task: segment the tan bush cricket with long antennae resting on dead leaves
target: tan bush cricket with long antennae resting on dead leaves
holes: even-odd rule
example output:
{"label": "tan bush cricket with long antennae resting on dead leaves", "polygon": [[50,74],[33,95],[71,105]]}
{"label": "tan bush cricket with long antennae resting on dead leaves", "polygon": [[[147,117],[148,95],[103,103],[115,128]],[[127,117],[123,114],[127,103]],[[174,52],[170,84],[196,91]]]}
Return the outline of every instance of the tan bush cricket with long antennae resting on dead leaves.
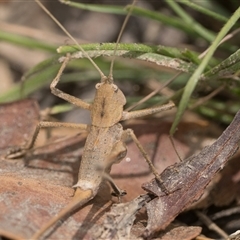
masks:
{"label": "tan bush cricket with long antennae resting on dead leaves", "polygon": [[[60,26],[60,23],[48,12],[48,10],[46,10],[46,8],[41,4],[41,2],[39,0],[35,1]],[[130,12],[131,11],[129,11],[124,21],[122,30],[124,29],[128,17],[130,16]],[[64,29],[62,26],[60,27],[71,39],[73,39],[66,29]],[[116,46],[119,42],[122,30],[119,34]],[[40,238],[51,226],[53,226],[62,217],[75,209],[81,208],[85,203],[93,199],[98,193],[100,184],[105,178],[110,181],[115,191],[115,195],[122,196],[125,194],[125,192],[123,190],[120,190],[111,180],[111,178],[106,177],[106,175],[108,176],[108,174],[110,173],[111,166],[113,164],[120,162],[126,156],[127,149],[125,142],[128,138],[131,138],[136,143],[137,147],[143,154],[156,179],[160,183],[162,183],[162,180],[160,179],[157,170],[155,169],[147,153],[141,146],[134,132],[131,129],[123,130],[120,122],[132,118],[151,115],[157,112],[161,112],[163,110],[168,110],[173,108],[175,105],[173,103],[169,103],[163,106],[147,108],[143,110],[131,112],[124,111],[123,107],[126,104],[126,98],[123,92],[113,82],[112,66],[114,58],[111,62],[110,74],[109,76],[105,76],[96,66],[93,60],[88,56],[88,54],[82,49],[82,47],[77,42],[76,44],[79,50],[82,51],[82,53],[93,63],[93,65],[99,71],[101,81],[100,83],[96,84],[96,93],[93,103],[91,104],[59,90],[56,86],[60,81],[63,70],[71,59],[71,56],[67,55],[62,62],[57,76],[54,78],[50,85],[52,94],[80,108],[89,110],[91,114],[91,124],[86,125],[46,121],[40,122],[38,124],[33,136],[33,140],[30,144],[31,147],[33,147],[40,129],[46,127],[76,128],[79,130],[87,131],[88,136],[82,154],[78,181],[73,186],[74,188],[76,188],[76,191],[72,201],[64,209],[62,209],[57,216],[53,217],[52,219],[50,219],[49,222],[42,226],[33,235],[32,239]],[[116,50],[117,47],[115,51]]]}

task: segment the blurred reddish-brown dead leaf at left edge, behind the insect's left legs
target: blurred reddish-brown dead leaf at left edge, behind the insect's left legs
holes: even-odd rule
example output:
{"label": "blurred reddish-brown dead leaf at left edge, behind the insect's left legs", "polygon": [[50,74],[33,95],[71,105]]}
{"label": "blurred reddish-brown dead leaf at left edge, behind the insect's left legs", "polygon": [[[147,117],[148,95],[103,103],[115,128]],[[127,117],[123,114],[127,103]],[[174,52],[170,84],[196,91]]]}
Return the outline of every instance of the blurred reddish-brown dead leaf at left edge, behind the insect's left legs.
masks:
{"label": "blurred reddish-brown dead leaf at left edge, behind the insect's left legs", "polygon": [[26,146],[39,121],[36,101],[25,99],[0,105],[0,156],[6,157]]}

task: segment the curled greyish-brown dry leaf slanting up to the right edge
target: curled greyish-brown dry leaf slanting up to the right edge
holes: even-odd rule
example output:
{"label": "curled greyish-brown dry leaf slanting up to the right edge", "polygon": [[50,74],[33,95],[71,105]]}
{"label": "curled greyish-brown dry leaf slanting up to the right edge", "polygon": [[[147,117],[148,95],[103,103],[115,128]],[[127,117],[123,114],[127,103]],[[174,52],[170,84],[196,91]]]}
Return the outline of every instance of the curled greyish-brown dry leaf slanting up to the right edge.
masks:
{"label": "curled greyish-brown dry leaf slanting up to the right edge", "polygon": [[155,179],[143,184],[147,192],[157,196],[146,205],[149,219],[145,237],[165,229],[180,212],[200,198],[215,174],[237,151],[239,140],[240,111],[212,145],[203,148],[199,154],[168,167],[161,174],[168,195],[161,190]]}

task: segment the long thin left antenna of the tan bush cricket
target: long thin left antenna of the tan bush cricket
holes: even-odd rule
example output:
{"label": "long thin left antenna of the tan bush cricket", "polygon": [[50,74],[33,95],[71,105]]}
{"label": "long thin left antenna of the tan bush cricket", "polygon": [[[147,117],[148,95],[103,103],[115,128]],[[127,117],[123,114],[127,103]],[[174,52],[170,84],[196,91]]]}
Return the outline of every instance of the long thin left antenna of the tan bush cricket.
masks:
{"label": "long thin left antenna of the tan bush cricket", "polygon": [[62,31],[77,45],[77,47],[83,52],[84,56],[93,64],[93,66],[97,69],[101,76],[101,82],[104,82],[106,76],[101,71],[101,69],[97,66],[97,64],[92,60],[92,58],[88,55],[88,53],[80,46],[80,44],[72,37],[72,35],[67,31],[65,27],[47,10],[47,8],[40,2],[40,0],[35,0],[35,2],[47,13],[47,15],[62,29]]}

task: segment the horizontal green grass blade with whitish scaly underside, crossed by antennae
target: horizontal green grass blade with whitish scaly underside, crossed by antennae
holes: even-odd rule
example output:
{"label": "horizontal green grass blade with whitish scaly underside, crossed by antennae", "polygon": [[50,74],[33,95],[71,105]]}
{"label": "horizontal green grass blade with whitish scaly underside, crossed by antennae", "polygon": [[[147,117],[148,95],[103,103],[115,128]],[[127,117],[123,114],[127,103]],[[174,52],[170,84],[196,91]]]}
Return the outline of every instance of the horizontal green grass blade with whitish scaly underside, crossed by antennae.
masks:
{"label": "horizontal green grass blade with whitish scaly underside, crossed by antennae", "polygon": [[[89,56],[96,58],[98,56],[113,56],[115,44],[84,44],[82,48],[88,52]],[[61,54],[72,54],[73,58],[85,58],[82,52],[79,52],[77,46],[62,46],[58,48],[58,52]],[[160,53],[163,53],[160,54]],[[194,54],[194,53],[193,53]],[[179,58],[181,55],[181,58]],[[189,62],[185,56],[181,54],[178,49],[174,48],[160,48],[159,46],[148,46],[144,44],[119,44],[116,56],[123,58],[134,58],[142,61],[148,61],[160,66],[175,69],[181,72],[192,73],[196,69],[196,65]],[[169,57],[170,56],[170,57]],[[186,61],[187,60],[187,61]]]}

